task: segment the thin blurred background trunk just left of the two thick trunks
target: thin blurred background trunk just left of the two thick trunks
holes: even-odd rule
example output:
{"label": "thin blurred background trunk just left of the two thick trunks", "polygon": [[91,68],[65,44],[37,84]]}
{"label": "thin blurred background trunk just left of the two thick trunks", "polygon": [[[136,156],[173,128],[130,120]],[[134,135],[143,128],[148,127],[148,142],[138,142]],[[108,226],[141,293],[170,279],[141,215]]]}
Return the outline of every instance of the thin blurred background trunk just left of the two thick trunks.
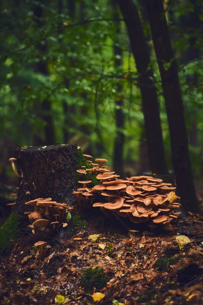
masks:
{"label": "thin blurred background trunk just left of the two thick trunks", "polygon": [[[113,19],[119,19],[118,8],[115,0],[113,0],[114,14]],[[120,34],[120,24],[116,23],[116,36]],[[122,50],[118,46],[118,41],[114,43],[114,56],[115,56],[115,67],[122,67]],[[123,113],[123,97],[121,95],[122,86],[117,85],[117,93],[120,93],[120,98],[115,101],[115,120],[116,120],[116,133],[114,140],[114,151],[113,151],[113,169],[118,175],[123,176],[123,146],[124,146],[124,113]]]}

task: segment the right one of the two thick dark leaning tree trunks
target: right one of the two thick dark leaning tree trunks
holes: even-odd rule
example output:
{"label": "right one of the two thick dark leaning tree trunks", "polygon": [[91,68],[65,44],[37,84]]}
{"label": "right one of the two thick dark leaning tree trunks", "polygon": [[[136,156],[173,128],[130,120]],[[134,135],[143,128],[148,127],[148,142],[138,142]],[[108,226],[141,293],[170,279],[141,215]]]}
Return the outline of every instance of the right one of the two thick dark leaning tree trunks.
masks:
{"label": "right one of the two thick dark leaning tree trunks", "polygon": [[147,0],[147,8],[152,39],[161,75],[178,193],[181,196],[185,210],[197,212],[198,204],[189,159],[184,107],[178,79],[178,67],[168,33],[162,0]]}

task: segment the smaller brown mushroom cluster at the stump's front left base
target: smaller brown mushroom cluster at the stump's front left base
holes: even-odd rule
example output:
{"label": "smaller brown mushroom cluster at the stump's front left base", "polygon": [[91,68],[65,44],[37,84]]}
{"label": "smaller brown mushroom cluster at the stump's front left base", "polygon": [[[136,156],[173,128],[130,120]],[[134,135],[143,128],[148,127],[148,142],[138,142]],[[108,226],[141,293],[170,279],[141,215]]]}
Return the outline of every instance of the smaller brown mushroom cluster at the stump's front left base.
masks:
{"label": "smaller brown mushroom cluster at the stump's front left base", "polygon": [[65,227],[67,211],[71,209],[65,203],[52,201],[52,198],[37,198],[25,202],[26,205],[34,207],[33,212],[25,212],[33,228],[39,228],[41,231],[47,226],[58,229],[60,226]]}

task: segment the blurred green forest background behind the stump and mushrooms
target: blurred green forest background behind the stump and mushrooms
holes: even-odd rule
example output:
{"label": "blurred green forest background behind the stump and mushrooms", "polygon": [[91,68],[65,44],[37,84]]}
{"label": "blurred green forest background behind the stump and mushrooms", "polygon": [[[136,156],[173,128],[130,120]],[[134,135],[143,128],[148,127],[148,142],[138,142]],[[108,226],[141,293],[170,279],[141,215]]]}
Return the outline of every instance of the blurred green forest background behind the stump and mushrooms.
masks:
{"label": "blurred green forest background behind the stump and mushrooms", "polygon": [[[185,123],[173,89],[170,96],[163,88],[167,73],[176,80],[177,72],[191,168],[201,181],[201,1],[164,0],[170,41],[162,41],[166,57],[159,62],[153,22],[156,13],[161,22],[163,16],[153,5],[162,5],[160,0],[0,3],[2,180],[11,174],[15,146],[56,143],[77,143],[84,153],[107,158],[123,176],[173,173],[171,141],[174,132],[180,132],[175,142],[184,138]],[[170,43],[174,53],[166,54]]]}

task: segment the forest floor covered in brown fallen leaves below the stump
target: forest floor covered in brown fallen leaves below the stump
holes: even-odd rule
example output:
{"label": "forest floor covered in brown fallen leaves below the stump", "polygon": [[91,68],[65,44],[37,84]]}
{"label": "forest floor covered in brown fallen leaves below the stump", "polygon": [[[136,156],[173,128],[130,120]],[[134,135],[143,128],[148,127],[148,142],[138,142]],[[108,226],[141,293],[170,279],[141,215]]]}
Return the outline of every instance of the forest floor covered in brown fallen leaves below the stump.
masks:
{"label": "forest floor covered in brown fallen leaves below the stump", "polygon": [[[203,217],[190,215],[179,220],[179,235],[129,235],[92,211],[75,215],[51,236],[24,226],[12,252],[1,258],[0,304],[202,304],[202,229]],[[183,247],[180,235],[190,239]],[[51,246],[45,257],[37,255],[39,240]],[[96,278],[90,269],[88,279],[89,267],[104,271],[96,269]]]}

